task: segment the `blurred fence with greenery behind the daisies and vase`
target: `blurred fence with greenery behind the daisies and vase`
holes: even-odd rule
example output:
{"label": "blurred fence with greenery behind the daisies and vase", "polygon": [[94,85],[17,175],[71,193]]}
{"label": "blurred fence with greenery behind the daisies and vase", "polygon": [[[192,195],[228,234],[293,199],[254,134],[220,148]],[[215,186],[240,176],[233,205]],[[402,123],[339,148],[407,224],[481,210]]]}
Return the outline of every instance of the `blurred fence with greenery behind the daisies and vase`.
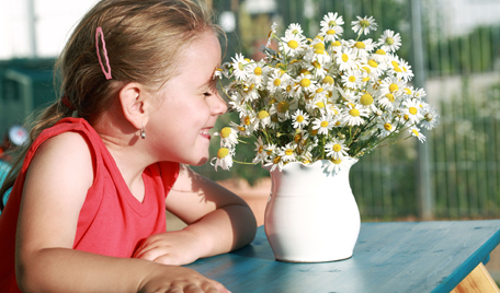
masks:
{"label": "blurred fence with greenery behind the daisies and vase", "polygon": [[[410,62],[416,73],[413,85],[425,89],[429,103],[441,114],[440,126],[424,133],[425,144],[408,140],[380,148],[353,166],[351,186],[364,220],[500,216],[500,75],[496,72],[500,66],[500,16],[491,16],[486,24],[484,20],[487,11],[500,9],[498,3],[468,2],[468,19],[481,25],[457,25],[454,20],[459,15],[453,14],[454,8],[467,8],[445,0],[276,3],[277,12],[266,15],[269,26],[276,20],[282,26],[299,23],[312,35],[327,12],[338,12],[345,21],[344,38],[355,37],[350,22],[356,15],[375,17],[378,34],[368,35],[375,40],[383,30],[399,32],[402,46],[398,56]],[[239,15],[243,9],[239,8]],[[262,23],[255,15],[250,21]],[[459,28],[463,32],[457,32]],[[248,51],[252,44],[245,44],[246,32],[237,34],[241,49]],[[214,178],[227,176],[208,168],[201,171]]]}

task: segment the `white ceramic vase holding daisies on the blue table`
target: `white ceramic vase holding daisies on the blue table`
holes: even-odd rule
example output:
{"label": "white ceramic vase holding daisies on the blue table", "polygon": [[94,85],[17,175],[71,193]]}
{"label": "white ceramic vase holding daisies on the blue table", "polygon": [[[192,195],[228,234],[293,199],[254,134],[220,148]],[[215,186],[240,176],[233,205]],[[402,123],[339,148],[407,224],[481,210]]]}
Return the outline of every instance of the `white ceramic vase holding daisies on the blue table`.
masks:
{"label": "white ceramic vase holding daisies on the blue table", "polygon": [[328,161],[292,162],[271,172],[264,228],[281,261],[322,262],[350,258],[360,234],[360,211],[349,184],[349,159],[337,174]]}

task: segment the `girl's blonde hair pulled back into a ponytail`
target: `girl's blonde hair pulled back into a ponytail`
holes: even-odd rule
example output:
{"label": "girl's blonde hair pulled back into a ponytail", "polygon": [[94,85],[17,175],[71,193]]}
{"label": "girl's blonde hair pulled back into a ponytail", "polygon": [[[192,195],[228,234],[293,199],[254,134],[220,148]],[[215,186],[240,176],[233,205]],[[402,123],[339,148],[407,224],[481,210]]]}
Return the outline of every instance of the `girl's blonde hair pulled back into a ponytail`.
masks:
{"label": "girl's blonde hair pulled back into a ponytail", "polygon": [[[58,99],[32,119],[30,141],[18,150],[0,196],[13,186],[27,150],[44,129],[70,116],[84,118],[92,125],[129,82],[140,83],[150,91],[159,90],[175,74],[182,49],[201,33],[221,32],[213,24],[212,16],[204,2],[196,0],[102,0],[96,3],[75,28],[56,62],[55,83],[60,83],[59,94],[67,97],[73,109]],[[103,31],[111,80],[106,80],[99,63],[98,27]],[[106,57],[102,44],[99,45],[104,62]]]}

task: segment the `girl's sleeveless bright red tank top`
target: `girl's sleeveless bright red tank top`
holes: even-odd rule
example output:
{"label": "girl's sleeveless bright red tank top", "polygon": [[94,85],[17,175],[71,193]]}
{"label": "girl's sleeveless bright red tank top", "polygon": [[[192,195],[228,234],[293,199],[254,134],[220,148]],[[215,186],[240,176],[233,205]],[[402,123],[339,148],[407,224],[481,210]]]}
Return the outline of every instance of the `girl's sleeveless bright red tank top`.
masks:
{"label": "girl's sleeveless bright red tank top", "polygon": [[130,194],[98,132],[84,119],[61,119],[33,142],[0,215],[1,292],[20,292],[15,281],[14,253],[26,171],[44,141],[67,131],[78,132],[86,139],[95,172],[78,219],[73,249],[129,258],[143,239],[166,232],[164,199],[179,175],[179,163],[160,162],[148,166],[143,173],[145,198],[139,202]]}

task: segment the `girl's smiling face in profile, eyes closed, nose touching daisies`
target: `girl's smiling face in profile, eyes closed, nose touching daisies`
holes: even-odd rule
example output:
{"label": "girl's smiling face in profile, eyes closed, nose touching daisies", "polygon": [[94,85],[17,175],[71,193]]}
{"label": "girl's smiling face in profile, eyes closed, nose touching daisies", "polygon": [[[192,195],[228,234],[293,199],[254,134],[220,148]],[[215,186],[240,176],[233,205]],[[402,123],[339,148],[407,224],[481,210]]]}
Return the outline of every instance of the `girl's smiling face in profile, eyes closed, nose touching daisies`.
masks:
{"label": "girl's smiling face in profile, eyes closed, nose touching daisies", "polygon": [[227,110],[217,80],[212,79],[220,54],[212,32],[203,33],[180,54],[179,74],[158,93],[164,102],[146,126],[146,140],[151,140],[148,144],[159,161],[202,165],[208,160],[209,131]]}

